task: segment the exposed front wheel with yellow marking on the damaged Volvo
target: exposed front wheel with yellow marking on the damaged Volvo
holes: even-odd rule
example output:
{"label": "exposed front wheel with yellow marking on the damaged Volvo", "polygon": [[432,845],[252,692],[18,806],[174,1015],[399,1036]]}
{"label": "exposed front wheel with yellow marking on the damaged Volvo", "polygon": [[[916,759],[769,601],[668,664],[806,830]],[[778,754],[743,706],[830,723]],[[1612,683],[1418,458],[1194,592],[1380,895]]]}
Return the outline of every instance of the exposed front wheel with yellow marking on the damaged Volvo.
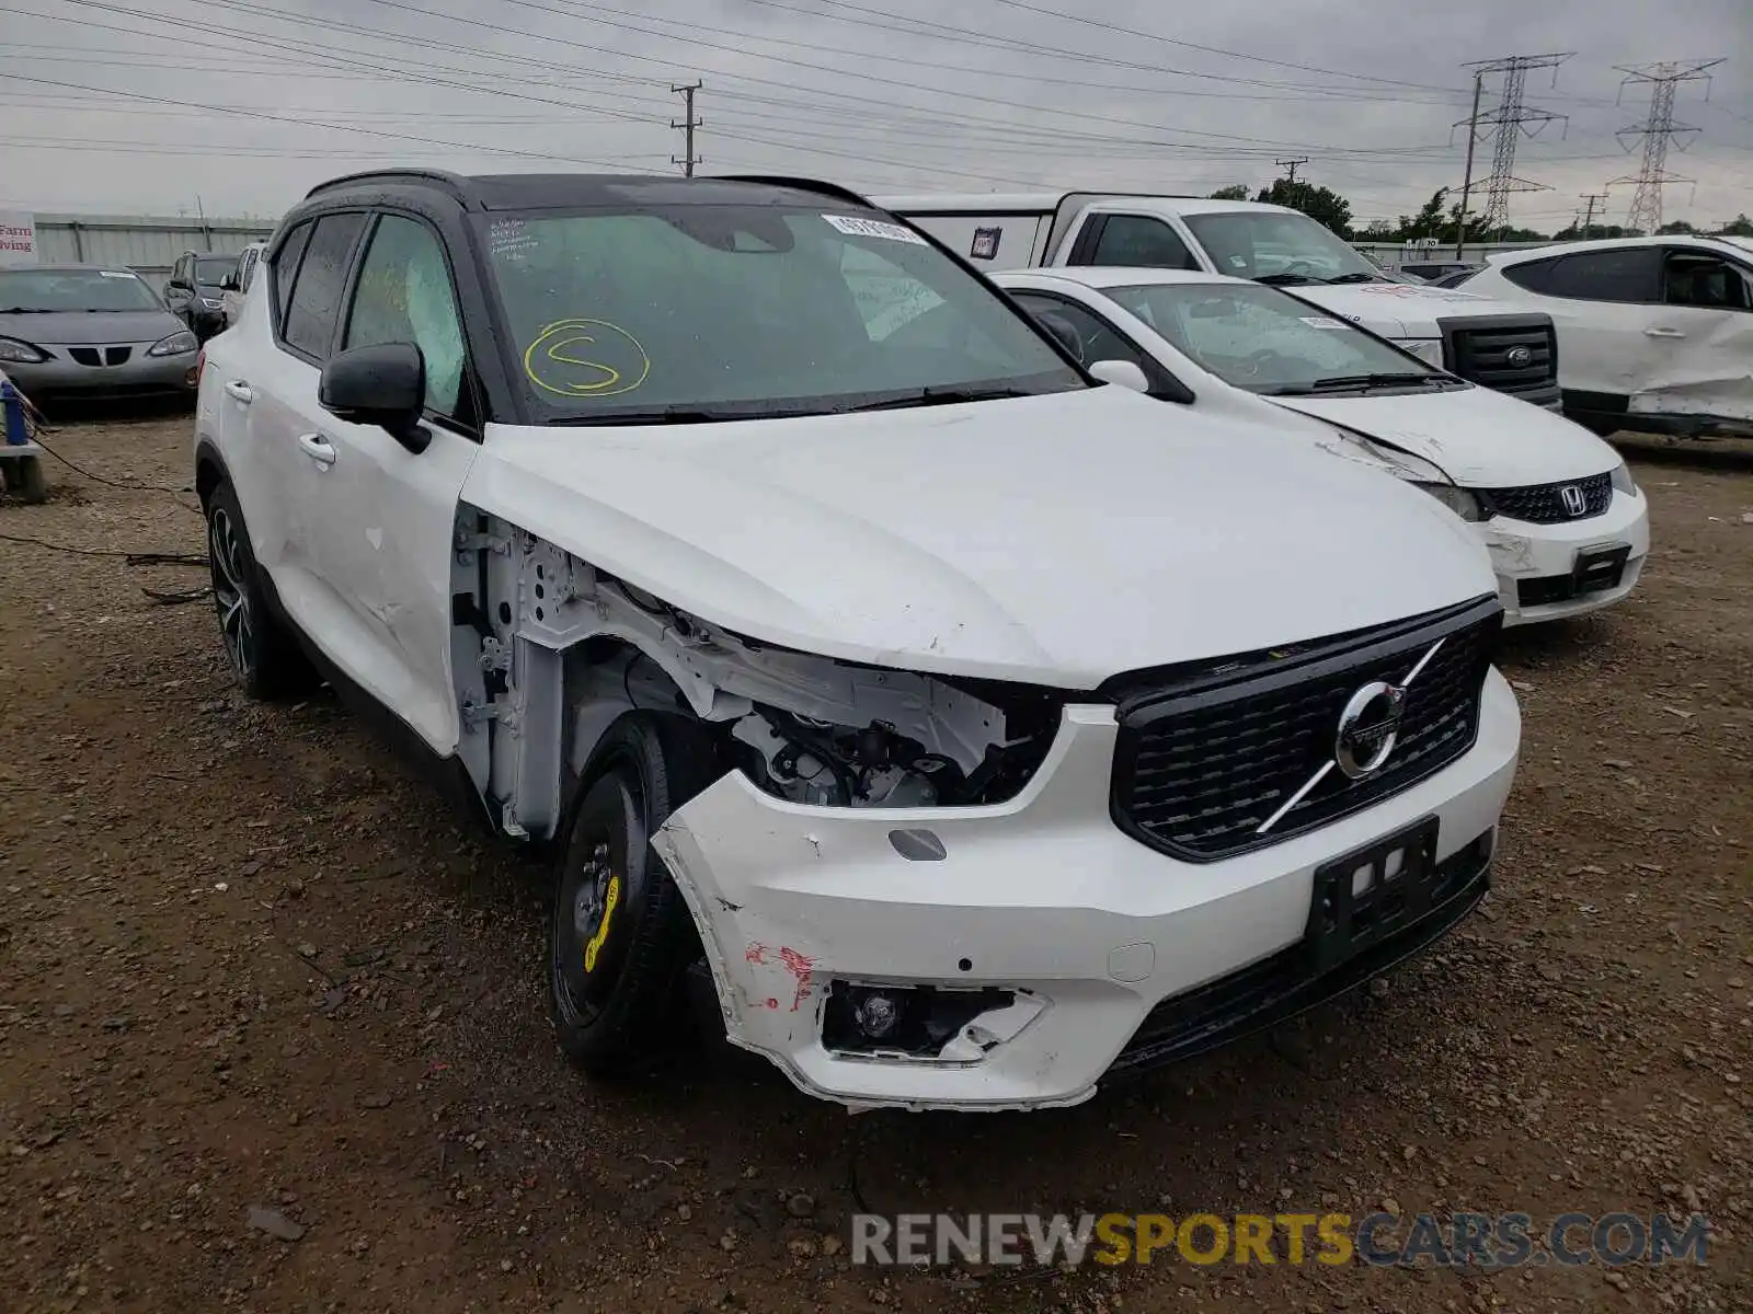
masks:
{"label": "exposed front wheel with yellow marking on the damaged Volvo", "polygon": [[561,1049],[594,1076],[622,1074],[687,1030],[699,936],[650,837],[713,764],[698,727],[638,713],[593,755],[549,908],[549,1006]]}

